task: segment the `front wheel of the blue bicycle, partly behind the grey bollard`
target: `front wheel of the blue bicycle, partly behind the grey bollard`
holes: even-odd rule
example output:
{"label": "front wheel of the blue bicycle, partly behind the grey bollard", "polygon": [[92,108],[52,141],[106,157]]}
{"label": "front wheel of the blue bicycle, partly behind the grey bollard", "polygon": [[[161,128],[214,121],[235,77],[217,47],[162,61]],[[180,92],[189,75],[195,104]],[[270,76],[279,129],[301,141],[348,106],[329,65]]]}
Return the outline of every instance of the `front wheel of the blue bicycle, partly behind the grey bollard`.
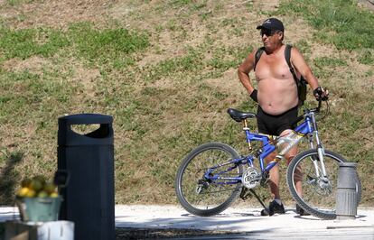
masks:
{"label": "front wheel of the blue bicycle, partly behind the grey bollard", "polygon": [[[314,217],[320,217],[323,219],[334,219],[336,218],[335,213],[335,196],[336,196],[336,185],[337,176],[339,171],[338,162],[347,162],[341,155],[325,150],[324,163],[325,169],[329,175],[329,180],[331,182],[331,189],[323,189],[319,183],[317,183],[317,178],[313,177],[314,167],[312,159],[318,159],[318,152],[315,149],[300,152],[295,156],[295,158],[290,162],[287,169],[287,185],[291,192],[292,197],[295,199],[296,203],[304,210]],[[302,169],[302,188],[303,196],[297,193],[295,187],[295,170],[301,167]],[[305,174],[306,173],[306,174]],[[297,176],[297,175],[296,175]],[[299,178],[300,179],[300,178]],[[327,185],[326,185],[327,186]],[[357,175],[356,179],[356,190],[357,190],[357,200],[360,203],[362,189],[361,181]]]}

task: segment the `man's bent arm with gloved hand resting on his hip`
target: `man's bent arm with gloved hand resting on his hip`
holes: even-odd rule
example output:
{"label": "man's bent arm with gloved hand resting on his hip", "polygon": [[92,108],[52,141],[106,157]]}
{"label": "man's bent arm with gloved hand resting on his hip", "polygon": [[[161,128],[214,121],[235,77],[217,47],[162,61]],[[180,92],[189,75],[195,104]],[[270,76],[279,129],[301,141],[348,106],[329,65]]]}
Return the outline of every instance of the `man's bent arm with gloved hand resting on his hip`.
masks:
{"label": "man's bent arm with gloved hand resting on his hip", "polygon": [[253,88],[249,78],[249,72],[254,68],[255,65],[255,54],[256,50],[249,53],[246,60],[238,67],[238,78],[244,88],[247,89],[249,96],[257,102],[257,90]]}

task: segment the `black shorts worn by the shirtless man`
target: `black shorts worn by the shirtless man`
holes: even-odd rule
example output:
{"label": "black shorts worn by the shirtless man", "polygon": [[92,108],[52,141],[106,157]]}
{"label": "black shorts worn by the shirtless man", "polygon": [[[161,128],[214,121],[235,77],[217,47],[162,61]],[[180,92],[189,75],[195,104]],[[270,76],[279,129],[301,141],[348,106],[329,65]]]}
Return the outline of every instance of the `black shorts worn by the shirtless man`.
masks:
{"label": "black shorts worn by the shirtless man", "polygon": [[296,120],[298,106],[295,106],[281,115],[269,115],[257,108],[257,128],[260,134],[279,136],[286,129],[292,129],[292,123]]}

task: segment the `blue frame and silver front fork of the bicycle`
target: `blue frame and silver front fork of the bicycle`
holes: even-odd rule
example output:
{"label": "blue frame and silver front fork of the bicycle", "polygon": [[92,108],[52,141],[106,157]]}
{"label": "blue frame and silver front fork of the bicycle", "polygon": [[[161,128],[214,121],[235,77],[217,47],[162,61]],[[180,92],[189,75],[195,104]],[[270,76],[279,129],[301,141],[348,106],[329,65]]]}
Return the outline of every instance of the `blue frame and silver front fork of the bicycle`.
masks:
{"label": "blue frame and silver front fork of the bicycle", "polygon": [[[304,121],[300,125],[297,125],[295,127],[294,131],[295,131],[296,134],[300,134],[300,135],[303,136],[303,138],[306,138],[312,149],[314,148],[313,141],[314,141],[314,138],[315,138],[315,143],[316,143],[316,147],[317,147],[317,151],[318,151],[318,155],[319,155],[319,160],[313,159],[313,165],[314,165],[317,177],[320,177],[321,173],[319,171],[320,168],[318,166],[318,162],[320,162],[321,163],[321,169],[323,171],[322,172],[323,177],[326,177],[327,174],[326,174],[326,170],[325,170],[324,162],[323,162],[324,149],[323,149],[323,145],[322,145],[322,143],[320,141],[320,138],[319,138],[317,123],[316,123],[315,114],[314,114],[315,112],[319,111],[320,107],[321,107],[321,102],[319,103],[319,106],[316,108],[317,110],[315,110],[315,109],[314,110],[305,110],[303,118],[301,118],[302,116],[299,116],[297,118],[298,120],[299,119],[304,119]],[[204,174],[204,178],[206,180],[214,180],[215,184],[237,184],[238,182],[241,182],[241,176],[238,176],[238,177],[221,177],[222,174],[224,174],[226,172],[229,172],[229,171],[232,171],[233,169],[236,168],[236,166],[235,167],[230,167],[229,169],[227,169],[225,171],[220,171],[218,173],[215,173],[214,175],[212,175],[211,173],[214,170],[216,170],[220,167],[223,167],[225,165],[229,165],[229,164],[232,164],[232,163],[235,163],[236,165],[238,165],[238,164],[248,164],[249,167],[253,167],[254,166],[253,162],[254,162],[255,156],[252,153],[253,149],[252,149],[252,146],[251,146],[251,142],[254,142],[254,141],[262,143],[262,147],[257,150],[257,158],[258,158],[258,162],[259,162],[259,165],[260,165],[260,170],[261,170],[262,176],[264,175],[264,173],[270,171],[273,167],[275,167],[276,164],[280,160],[284,159],[283,156],[277,155],[275,160],[273,160],[272,162],[269,162],[265,166],[265,164],[264,164],[265,158],[271,152],[276,151],[276,145],[272,144],[272,143],[274,143],[274,140],[276,138],[278,138],[278,136],[251,133],[250,129],[248,128],[247,119],[243,120],[243,125],[244,125],[243,130],[246,134],[246,141],[248,143],[248,149],[249,149],[249,152],[251,152],[251,153],[247,156],[240,157],[238,159],[234,159],[234,160],[231,160],[229,162],[221,163],[217,166],[214,166],[214,167],[210,168]],[[229,180],[229,181],[217,182],[216,180]]]}

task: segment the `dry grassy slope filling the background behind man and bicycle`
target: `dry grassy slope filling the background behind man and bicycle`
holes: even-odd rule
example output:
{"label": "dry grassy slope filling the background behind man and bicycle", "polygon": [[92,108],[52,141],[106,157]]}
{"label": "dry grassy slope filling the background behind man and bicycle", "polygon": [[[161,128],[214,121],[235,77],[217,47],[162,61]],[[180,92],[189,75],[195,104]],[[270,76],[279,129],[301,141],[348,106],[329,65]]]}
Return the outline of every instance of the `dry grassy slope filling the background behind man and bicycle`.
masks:
{"label": "dry grassy slope filling the background behind man and bicycle", "polygon": [[175,203],[174,175],[193,147],[214,140],[246,151],[226,109],[255,111],[236,68],[260,46],[257,23],[276,15],[285,42],[331,90],[331,115],[320,124],[325,146],[360,162],[363,203],[372,206],[374,171],[364,165],[374,161],[374,36],[358,23],[372,26],[373,14],[357,14],[353,2],[260,2],[2,3],[1,203],[23,176],[51,176],[57,118],[82,112],[115,118],[117,203]]}

